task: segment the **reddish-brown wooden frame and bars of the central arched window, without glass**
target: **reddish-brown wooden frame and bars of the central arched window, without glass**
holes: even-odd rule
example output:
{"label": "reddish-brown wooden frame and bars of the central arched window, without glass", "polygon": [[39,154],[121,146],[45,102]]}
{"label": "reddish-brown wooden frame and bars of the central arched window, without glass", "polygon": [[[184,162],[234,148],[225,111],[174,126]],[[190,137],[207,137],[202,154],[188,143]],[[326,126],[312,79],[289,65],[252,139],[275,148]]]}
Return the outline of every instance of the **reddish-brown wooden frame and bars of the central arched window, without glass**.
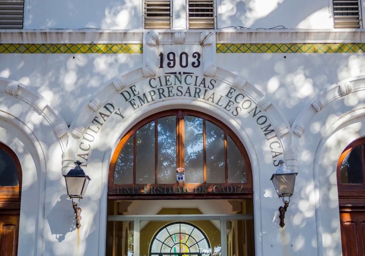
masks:
{"label": "reddish-brown wooden frame and bars of the central arched window, without glass", "polygon": [[[140,129],[141,127],[143,127],[143,125],[150,123],[151,121],[155,121],[157,122],[157,120],[161,117],[166,117],[166,116],[172,116],[172,115],[176,115],[177,117],[177,125],[176,125],[176,135],[177,135],[177,152],[176,152],[176,157],[177,157],[177,167],[184,167],[184,116],[185,115],[189,115],[189,116],[195,116],[195,117],[199,117],[203,119],[203,124],[205,124],[205,121],[210,121],[211,123],[217,125],[219,128],[221,128],[224,132],[224,159],[225,162],[227,162],[227,135],[229,135],[231,137],[231,139],[235,142],[238,150],[240,151],[243,160],[245,161],[245,171],[246,171],[246,183],[228,183],[228,166],[227,164],[225,165],[225,182],[224,183],[218,183],[219,185],[242,185],[242,191],[244,193],[239,193],[239,194],[226,194],[226,196],[228,195],[229,198],[235,198],[235,197],[240,197],[240,198],[252,198],[252,193],[253,193],[253,183],[252,183],[252,171],[251,171],[251,163],[247,154],[247,151],[245,149],[245,147],[243,146],[243,144],[241,143],[241,141],[239,140],[238,136],[235,135],[235,133],[226,125],[224,124],[222,121],[219,121],[218,119],[208,116],[207,114],[195,111],[195,110],[187,110],[187,109],[174,109],[174,110],[166,110],[163,112],[159,112],[156,113],[150,117],[147,117],[145,119],[143,119],[141,122],[139,122],[138,124],[134,125],[134,127],[132,127],[124,136],[123,138],[120,140],[120,142],[118,143],[118,145],[115,148],[115,151],[112,155],[111,158],[111,163],[110,163],[110,167],[109,167],[109,174],[108,174],[108,199],[116,199],[116,198],[120,198],[121,195],[118,195],[117,193],[117,188],[120,185],[123,186],[129,186],[129,185],[134,185],[134,186],[138,186],[138,185],[146,185],[146,184],[137,184],[135,183],[136,181],[136,177],[135,177],[135,166],[136,166],[136,158],[134,157],[134,164],[133,164],[133,183],[132,184],[114,184],[114,170],[115,170],[115,166],[116,166],[116,162],[118,159],[118,156],[120,154],[120,152],[122,151],[124,144],[128,141],[128,139],[131,138],[131,136],[135,135],[138,131],[138,129]],[[157,130],[157,128],[155,128]],[[203,131],[204,128],[203,128]],[[205,137],[205,132],[203,132],[203,136]],[[157,136],[155,136],[155,138],[157,138]],[[205,138],[204,138],[205,139]],[[134,138],[135,140],[135,138]],[[157,143],[155,143],[155,147],[157,147]],[[134,156],[136,155],[135,153],[135,144],[134,144]],[[180,149],[180,150],[178,150]],[[205,162],[205,143],[203,145],[203,151],[204,151],[204,163],[203,163],[203,180],[204,182],[201,183],[196,183],[196,184],[184,184],[186,185],[189,189],[193,189],[196,185],[204,185],[207,186],[209,188],[212,188],[214,185],[217,184],[212,184],[212,183],[207,183],[206,182],[206,162]],[[155,158],[157,155],[157,151],[155,152]],[[157,161],[155,161],[155,184],[148,184],[148,185],[159,185],[159,186],[163,186],[163,185],[172,185],[172,184],[161,184],[158,183],[157,184]],[[245,195],[246,194],[246,195]],[[221,194],[216,194],[216,195],[221,195]],[[147,197],[153,197],[154,199],[157,199],[159,197],[159,195],[153,195],[153,196],[149,196],[149,195],[128,195],[129,197],[133,197],[133,199],[138,199],[139,197],[142,199],[145,199]],[[163,197],[169,197],[172,198],[174,197],[174,195],[162,195]],[[192,194],[185,194],[185,195],[178,195],[178,198],[184,197],[184,196],[193,196]],[[194,198],[197,197],[212,197],[212,198],[217,198],[215,195],[207,195],[207,194],[194,194]],[[222,196],[222,195],[221,195]],[[225,196],[223,196],[225,197]]]}

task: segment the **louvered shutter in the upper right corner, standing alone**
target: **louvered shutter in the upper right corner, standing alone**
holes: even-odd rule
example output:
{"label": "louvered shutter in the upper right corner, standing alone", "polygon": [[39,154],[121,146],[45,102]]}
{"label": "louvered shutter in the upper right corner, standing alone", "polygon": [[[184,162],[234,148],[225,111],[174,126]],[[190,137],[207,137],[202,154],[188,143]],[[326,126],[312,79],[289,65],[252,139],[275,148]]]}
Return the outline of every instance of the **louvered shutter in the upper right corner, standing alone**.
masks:
{"label": "louvered shutter in the upper right corner, standing alone", "polygon": [[333,0],[335,28],[360,28],[358,0]]}

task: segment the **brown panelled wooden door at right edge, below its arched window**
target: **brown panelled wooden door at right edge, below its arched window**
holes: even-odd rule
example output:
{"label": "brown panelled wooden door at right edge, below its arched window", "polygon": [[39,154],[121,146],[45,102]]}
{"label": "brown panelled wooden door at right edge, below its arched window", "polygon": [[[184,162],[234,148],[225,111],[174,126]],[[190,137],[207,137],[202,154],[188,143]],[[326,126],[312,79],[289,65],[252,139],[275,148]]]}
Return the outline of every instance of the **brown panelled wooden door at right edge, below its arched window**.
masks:
{"label": "brown panelled wooden door at right edge, below its arched window", "polygon": [[343,256],[365,255],[365,211],[341,211]]}

